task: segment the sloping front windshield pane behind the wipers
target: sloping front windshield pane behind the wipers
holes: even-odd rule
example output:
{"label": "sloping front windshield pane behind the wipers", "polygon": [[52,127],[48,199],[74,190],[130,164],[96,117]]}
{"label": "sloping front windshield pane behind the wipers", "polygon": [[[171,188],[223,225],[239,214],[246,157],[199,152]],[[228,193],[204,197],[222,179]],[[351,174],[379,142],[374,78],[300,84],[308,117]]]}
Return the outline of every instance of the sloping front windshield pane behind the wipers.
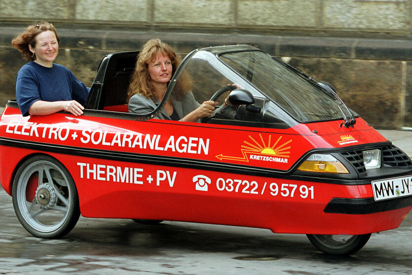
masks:
{"label": "sloping front windshield pane behind the wipers", "polygon": [[346,112],[332,94],[268,54],[246,51],[220,58],[300,122],[342,119],[342,110]]}

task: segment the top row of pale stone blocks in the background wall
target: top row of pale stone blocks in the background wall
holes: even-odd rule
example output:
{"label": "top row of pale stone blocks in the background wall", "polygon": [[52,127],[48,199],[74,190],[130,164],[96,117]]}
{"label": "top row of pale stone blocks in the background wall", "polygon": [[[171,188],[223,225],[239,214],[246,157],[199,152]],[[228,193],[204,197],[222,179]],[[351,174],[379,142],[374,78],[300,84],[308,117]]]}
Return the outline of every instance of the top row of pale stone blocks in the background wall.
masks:
{"label": "top row of pale stone blocks in the background wall", "polygon": [[411,33],[411,0],[0,0],[0,19]]}

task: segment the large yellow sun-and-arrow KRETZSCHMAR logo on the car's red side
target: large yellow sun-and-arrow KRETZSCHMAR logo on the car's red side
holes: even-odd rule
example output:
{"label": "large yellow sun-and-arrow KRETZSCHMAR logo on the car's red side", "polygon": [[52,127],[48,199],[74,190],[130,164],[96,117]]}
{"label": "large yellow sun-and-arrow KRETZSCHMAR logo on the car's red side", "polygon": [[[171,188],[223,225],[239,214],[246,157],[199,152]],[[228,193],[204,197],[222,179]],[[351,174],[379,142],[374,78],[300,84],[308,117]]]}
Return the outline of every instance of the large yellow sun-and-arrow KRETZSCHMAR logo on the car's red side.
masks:
{"label": "large yellow sun-and-arrow KRETZSCHMAR logo on the car's red side", "polygon": [[270,162],[281,162],[288,163],[288,157],[291,153],[288,151],[291,149],[288,146],[292,140],[286,142],[281,142],[282,136],[278,137],[272,143],[272,136],[269,135],[268,140],[264,141],[262,134],[259,134],[260,141],[255,140],[252,136],[249,136],[249,141],[243,141],[245,145],[242,145],[242,157],[231,157],[225,156],[223,154],[216,156],[220,160],[235,160],[235,161],[250,161],[250,160],[260,160],[260,161],[270,161]]}

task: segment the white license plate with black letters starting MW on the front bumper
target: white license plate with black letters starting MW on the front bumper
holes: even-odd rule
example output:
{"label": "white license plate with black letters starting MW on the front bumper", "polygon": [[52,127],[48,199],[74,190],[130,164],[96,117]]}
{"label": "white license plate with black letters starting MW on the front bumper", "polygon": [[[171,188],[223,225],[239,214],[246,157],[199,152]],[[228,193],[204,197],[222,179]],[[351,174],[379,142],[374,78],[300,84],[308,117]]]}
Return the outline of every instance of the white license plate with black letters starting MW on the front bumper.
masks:
{"label": "white license plate with black letters starting MW on the front bumper", "polygon": [[375,200],[412,195],[412,175],[372,182]]}

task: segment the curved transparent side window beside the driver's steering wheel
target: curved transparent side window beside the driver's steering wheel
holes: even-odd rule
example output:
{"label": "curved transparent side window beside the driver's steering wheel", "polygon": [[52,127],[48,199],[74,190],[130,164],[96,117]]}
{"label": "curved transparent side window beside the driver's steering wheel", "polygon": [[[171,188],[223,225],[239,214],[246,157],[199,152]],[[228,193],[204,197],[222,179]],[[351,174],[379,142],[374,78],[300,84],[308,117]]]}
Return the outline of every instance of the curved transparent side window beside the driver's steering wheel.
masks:
{"label": "curved transparent side window beside the driver's steering wheel", "polygon": [[[172,83],[172,96],[185,94],[181,90],[184,82],[189,82],[189,91],[195,100],[201,104],[216,96],[218,107],[222,107],[229,91],[216,95],[216,92],[227,85],[236,84],[252,94],[254,106],[259,108],[250,111],[246,105],[232,106],[233,108],[218,108],[207,121],[215,124],[230,124],[267,128],[288,128],[297,124],[284,110],[279,108],[262,94],[251,82],[233,71],[209,51],[194,52],[177,73],[176,83]],[[174,81],[172,81],[174,82]]]}

